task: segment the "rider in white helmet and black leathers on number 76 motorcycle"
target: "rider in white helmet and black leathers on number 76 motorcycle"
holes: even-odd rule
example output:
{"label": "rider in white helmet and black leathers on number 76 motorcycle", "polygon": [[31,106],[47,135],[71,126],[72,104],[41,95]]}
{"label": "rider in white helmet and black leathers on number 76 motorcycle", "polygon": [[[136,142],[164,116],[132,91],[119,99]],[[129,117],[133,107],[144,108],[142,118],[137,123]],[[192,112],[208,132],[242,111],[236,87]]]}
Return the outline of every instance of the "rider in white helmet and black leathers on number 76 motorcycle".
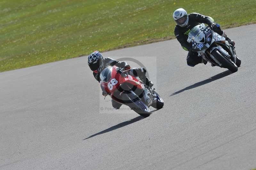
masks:
{"label": "rider in white helmet and black leathers on number 76 motorcycle", "polygon": [[199,23],[208,24],[208,26],[211,27],[211,29],[214,32],[218,33],[221,36],[224,36],[229,44],[231,44],[232,46],[235,45],[235,42],[230,40],[227,37],[225,32],[221,30],[220,25],[215,23],[212,17],[204,16],[199,13],[187,14],[187,12],[183,8],[179,8],[175,10],[173,12],[172,17],[177,23],[174,29],[174,35],[176,36],[177,40],[180,42],[182,48],[184,50],[189,51],[187,56],[188,66],[194,67],[199,63],[204,63],[204,64],[207,63],[207,61],[204,61],[204,59],[201,56],[198,56],[197,52],[192,51],[192,47],[190,46],[190,43],[187,42],[189,31],[193,27],[199,25]]}

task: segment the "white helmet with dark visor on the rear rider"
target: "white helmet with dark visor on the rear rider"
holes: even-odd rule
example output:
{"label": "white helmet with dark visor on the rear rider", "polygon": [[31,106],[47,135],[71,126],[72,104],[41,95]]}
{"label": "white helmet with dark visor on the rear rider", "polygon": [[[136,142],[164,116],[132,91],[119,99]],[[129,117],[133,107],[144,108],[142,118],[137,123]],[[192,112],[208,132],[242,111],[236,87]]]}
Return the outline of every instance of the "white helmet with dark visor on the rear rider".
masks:
{"label": "white helmet with dark visor on the rear rider", "polygon": [[188,13],[183,8],[175,10],[172,17],[180,27],[186,27],[188,25]]}

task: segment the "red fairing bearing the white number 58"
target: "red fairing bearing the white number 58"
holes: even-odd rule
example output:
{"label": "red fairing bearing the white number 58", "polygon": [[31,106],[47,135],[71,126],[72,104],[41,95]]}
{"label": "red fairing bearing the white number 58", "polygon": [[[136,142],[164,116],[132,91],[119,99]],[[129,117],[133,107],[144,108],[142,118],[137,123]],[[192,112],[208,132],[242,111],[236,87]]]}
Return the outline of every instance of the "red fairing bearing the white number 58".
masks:
{"label": "red fairing bearing the white number 58", "polygon": [[119,88],[119,86],[125,83],[128,83],[128,85],[131,84],[139,89],[145,88],[144,85],[141,84],[140,81],[138,81],[138,79],[136,79],[135,77],[131,75],[123,77],[120,73],[116,71],[116,66],[112,67],[111,78],[109,79],[109,81],[107,83],[101,82],[101,86],[103,86],[107,93],[110,93],[112,96],[112,94]]}

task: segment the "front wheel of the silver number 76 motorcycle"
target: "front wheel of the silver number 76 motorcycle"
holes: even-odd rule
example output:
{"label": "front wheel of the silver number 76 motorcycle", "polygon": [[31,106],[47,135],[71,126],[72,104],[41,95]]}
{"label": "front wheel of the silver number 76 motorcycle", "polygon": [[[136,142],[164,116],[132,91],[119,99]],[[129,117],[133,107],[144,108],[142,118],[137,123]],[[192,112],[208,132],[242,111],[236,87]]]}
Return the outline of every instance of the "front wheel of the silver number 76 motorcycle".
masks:
{"label": "front wheel of the silver number 76 motorcycle", "polygon": [[214,49],[212,51],[212,55],[228,70],[235,73],[237,72],[238,68],[236,64],[229,58],[224,57],[219,50]]}

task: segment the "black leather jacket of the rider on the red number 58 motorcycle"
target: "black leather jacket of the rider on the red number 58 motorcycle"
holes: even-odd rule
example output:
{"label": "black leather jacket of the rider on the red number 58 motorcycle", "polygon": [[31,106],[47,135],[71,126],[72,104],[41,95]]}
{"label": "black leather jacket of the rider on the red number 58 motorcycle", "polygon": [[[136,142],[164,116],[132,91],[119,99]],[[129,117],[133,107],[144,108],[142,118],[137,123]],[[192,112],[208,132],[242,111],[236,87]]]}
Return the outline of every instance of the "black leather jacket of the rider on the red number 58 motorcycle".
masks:
{"label": "black leather jacket of the rider on the red number 58 motorcycle", "polygon": [[102,65],[99,67],[97,70],[97,73],[93,72],[94,78],[100,82],[100,73],[107,68],[108,66],[117,66],[117,67],[126,67],[129,66],[125,61],[116,61],[115,59],[112,58],[103,58],[102,59]]}

